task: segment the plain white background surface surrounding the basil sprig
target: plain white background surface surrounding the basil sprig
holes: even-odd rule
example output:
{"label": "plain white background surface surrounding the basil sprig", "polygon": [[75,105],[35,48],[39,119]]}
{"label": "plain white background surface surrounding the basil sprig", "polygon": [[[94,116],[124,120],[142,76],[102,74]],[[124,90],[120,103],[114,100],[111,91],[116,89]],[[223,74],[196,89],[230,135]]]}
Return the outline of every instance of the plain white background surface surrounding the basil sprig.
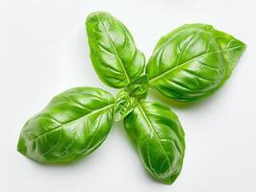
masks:
{"label": "plain white background surface surrounding the basil sprig", "polygon": [[[0,191],[255,192],[255,7],[254,0],[0,0]],[[69,166],[41,165],[16,152],[24,122],[54,95],[78,85],[115,94],[89,59],[85,20],[99,10],[118,17],[147,58],[160,36],[185,23],[212,24],[247,44],[217,94],[190,107],[170,106],[187,140],[184,168],[172,185],[147,176],[122,123]]]}

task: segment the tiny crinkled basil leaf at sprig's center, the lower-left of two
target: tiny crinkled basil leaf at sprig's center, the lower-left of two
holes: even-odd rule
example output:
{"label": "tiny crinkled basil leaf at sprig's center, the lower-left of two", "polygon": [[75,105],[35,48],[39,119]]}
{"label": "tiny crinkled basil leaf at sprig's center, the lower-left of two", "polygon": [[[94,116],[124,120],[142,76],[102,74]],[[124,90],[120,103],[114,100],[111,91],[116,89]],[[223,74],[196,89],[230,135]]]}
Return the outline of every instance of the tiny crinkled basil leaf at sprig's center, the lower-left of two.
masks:
{"label": "tiny crinkled basil leaf at sprig's center, the lower-left of two", "polygon": [[124,119],[137,105],[138,100],[125,90],[120,90],[115,99],[115,121]]}

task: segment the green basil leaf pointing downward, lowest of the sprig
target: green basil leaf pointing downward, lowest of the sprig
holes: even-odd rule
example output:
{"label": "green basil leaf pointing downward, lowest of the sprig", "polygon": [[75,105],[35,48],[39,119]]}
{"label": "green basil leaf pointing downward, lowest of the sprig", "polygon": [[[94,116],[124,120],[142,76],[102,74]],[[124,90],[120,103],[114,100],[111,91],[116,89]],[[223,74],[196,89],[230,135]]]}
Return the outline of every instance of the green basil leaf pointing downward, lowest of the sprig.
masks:
{"label": "green basil leaf pointing downward, lowest of the sprig", "polygon": [[161,104],[141,101],[124,119],[124,126],[146,170],[161,182],[176,180],[186,148],[178,117]]}

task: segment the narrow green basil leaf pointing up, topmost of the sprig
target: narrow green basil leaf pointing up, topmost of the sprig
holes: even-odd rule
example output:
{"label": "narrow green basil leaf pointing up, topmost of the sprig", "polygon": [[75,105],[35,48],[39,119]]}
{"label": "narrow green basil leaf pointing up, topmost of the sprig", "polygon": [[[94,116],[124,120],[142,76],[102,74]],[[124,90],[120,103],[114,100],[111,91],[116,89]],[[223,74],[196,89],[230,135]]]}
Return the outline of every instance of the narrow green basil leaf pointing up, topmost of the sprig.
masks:
{"label": "narrow green basil leaf pointing up, topmost of the sprig", "polygon": [[87,19],[90,59],[105,84],[121,88],[144,72],[144,55],[126,27],[108,12],[93,12]]}

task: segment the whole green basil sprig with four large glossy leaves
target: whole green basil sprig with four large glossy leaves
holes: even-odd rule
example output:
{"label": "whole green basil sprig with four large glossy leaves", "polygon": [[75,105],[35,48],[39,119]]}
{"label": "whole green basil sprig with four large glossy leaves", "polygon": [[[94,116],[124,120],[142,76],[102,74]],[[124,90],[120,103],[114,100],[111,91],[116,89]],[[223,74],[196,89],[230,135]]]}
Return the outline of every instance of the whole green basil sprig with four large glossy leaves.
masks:
{"label": "whole green basil sprig with four large glossy leaves", "polygon": [[73,162],[102,144],[113,119],[124,120],[145,169],[171,184],[182,170],[185,133],[166,105],[146,100],[149,87],[179,102],[210,95],[231,76],[245,44],[210,25],[184,25],[159,40],[145,66],[110,13],[91,13],[86,26],[93,67],[103,83],[120,88],[116,98],[95,87],[64,91],[26,122],[18,152],[42,163]]}

